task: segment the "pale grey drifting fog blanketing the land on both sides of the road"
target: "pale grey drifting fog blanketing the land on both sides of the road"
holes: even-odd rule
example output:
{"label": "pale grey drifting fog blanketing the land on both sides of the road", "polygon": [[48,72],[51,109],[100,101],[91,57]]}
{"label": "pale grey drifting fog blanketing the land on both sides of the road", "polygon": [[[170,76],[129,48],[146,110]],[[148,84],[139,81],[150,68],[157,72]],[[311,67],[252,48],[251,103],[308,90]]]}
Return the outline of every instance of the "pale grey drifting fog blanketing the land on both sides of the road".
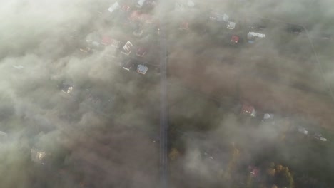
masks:
{"label": "pale grey drifting fog blanketing the land on both sides of the road", "polygon": [[[110,58],[117,53],[110,46],[90,55],[79,51],[95,32],[134,38],[108,25],[114,1],[0,2],[0,131],[7,134],[1,141],[0,187],[157,187],[158,71],[154,66],[143,76],[124,71]],[[322,38],[333,35],[332,1],[194,2],[184,11],[174,11],[174,1],[158,2],[150,13],[166,19],[168,147],[180,152],[169,166],[171,187],[231,186],[226,169],[236,150],[238,164],[246,166],[273,150],[282,153],[282,163],[293,160],[295,152],[277,144],[289,123],[333,130],[334,46],[333,38]],[[210,9],[228,14],[237,26],[265,23],[267,37],[251,47],[226,47],[221,26],[207,21]],[[185,20],[193,31],[179,31]],[[285,22],[305,26],[308,33],[286,35]],[[158,46],[155,37],[133,41]],[[159,60],[160,48],[154,50],[152,59]],[[66,84],[73,86],[71,96],[61,91]],[[278,123],[254,128],[254,122],[239,120],[233,108],[243,102],[275,113]],[[302,141],[287,142],[297,148]],[[32,148],[46,151],[55,164],[32,162]],[[323,163],[331,168],[329,148]],[[235,177],[242,176],[238,170]]]}

